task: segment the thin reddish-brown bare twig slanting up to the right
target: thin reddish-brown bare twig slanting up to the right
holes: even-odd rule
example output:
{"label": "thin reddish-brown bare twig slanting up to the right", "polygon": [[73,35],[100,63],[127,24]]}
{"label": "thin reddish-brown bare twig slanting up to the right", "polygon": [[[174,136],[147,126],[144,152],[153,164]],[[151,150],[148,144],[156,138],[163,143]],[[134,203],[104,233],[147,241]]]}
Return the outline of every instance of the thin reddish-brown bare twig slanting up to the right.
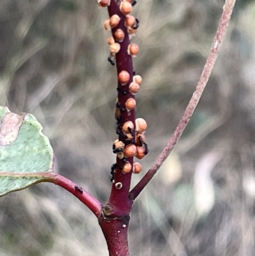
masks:
{"label": "thin reddish-brown bare twig slanting up to the right", "polygon": [[226,34],[226,30],[228,28],[231,13],[233,11],[234,6],[235,6],[235,0],[226,0],[226,3],[224,4],[224,7],[223,7],[221,19],[219,21],[219,26],[214,38],[214,43],[210,50],[210,54],[207,58],[207,62],[205,63],[203,72],[201,73],[200,80],[198,82],[198,85],[196,86],[193,96],[191,97],[191,100],[187,105],[184,115],[182,116],[182,119],[180,119],[180,123],[175,129],[175,132],[171,136],[168,144],[166,145],[166,147],[164,147],[161,154],[159,154],[156,162],[154,162],[154,164],[148,170],[145,176],[143,176],[142,179],[139,181],[139,183],[136,184],[135,188],[131,190],[130,196],[134,200],[136,199],[136,197],[138,197],[140,192],[142,192],[143,188],[145,188],[145,186],[149,183],[150,179],[152,179],[154,174],[156,174],[157,170],[159,169],[159,167],[161,167],[164,160],[166,160],[168,155],[171,153],[171,150],[173,149],[177,141],[180,139],[180,136],[184,132],[184,129],[186,128],[187,124],[189,123],[189,120],[191,119],[191,116],[193,115],[193,112],[196,109],[196,105],[198,105],[198,102],[201,98],[203,90],[207,85],[210,74],[212,73],[212,68],[214,67],[214,63],[219,54],[219,49],[221,47],[222,40]]}

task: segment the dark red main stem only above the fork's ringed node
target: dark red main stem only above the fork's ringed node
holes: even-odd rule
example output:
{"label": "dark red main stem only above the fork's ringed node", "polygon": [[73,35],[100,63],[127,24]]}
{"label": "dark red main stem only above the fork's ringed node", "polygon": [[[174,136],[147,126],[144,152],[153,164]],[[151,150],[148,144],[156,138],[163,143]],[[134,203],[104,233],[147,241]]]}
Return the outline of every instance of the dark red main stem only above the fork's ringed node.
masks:
{"label": "dark red main stem only above the fork's ringed node", "polygon": [[[117,1],[115,3],[114,0],[111,0],[110,6],[108,6],[108,13],[109,16],[112,17],[112,15],[117,14],[120,17],[120,22],[117,27],[114,27],[112,29],[112,36],[115,38],[114,33],[117,31],[117,29],[122,29],[125,33],[124,40],[120,42],[120,51],[116,54],[116,66],[117,66],[117,76],[118,74],[125,70],[129,73],[129,82],[126,85],[120,84],[118,81],[118,87],[121,90],[126,91],[126,94],[118,93],[118,102],[120,104],[120,107],[124,109],[124,111],[120,111],[120,123],[121,126],[126,123],[126,121],[132,121],[135,126],[135,110],[127,111],[125,103],[128,100],[128,98],[134,98],[134,96],[129,93],[129,84],[133,80],[133,62],[132,57],[128,54],[128,45],[130,44],[129,40],[129,34],[128,30],[124,26],[124,21],[126,19],[126,16],[123,15],[119,10],[119,3],[121,1]],[[124,138],[120,135],[119,140],[124,141]],[[133,157],[127,158],[127,161],[131,163],[133,166]],[[108,199],[108,202],[106,204],[106,207],[108,209],[107,215],[108,216],[126,216],[130,213],[131,207],[133,204],[133,201],[129,199],[129,189],[130,189],[130,183],[131,183],[131,172],[128,174],[123,174],[120,170],[120,166],[122,165],[123,160],[117,157],[117,168],[116,172],[114,174],[114,182],[112,184],[112,191],[110,193],[110,197]],[[122,188],[117,189],[116,184],[121,183]],[[110,209],[110,210],[109,210]]]}

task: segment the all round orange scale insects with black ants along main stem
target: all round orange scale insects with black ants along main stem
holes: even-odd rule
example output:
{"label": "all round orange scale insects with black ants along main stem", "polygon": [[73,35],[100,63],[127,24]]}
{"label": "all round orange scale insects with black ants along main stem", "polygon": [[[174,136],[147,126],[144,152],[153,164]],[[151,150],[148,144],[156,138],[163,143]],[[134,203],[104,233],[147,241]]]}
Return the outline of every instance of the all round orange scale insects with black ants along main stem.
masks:
{"label": "all round orange scale insects with black ants along main stem", "polygon": [[[101,7],[108,7],[113,3],[112,0],[98,0],[98,4]],[[122,0],[115,1],[118,4],[119,10],[123,15],[113,14],[110,16],[110,19],[105,20],[104,26],[106,31],[110,31],[112,29],[112,36],[108,38],[108,45],[110,46],[110,55],[108,56],[108,62],[114,66],[115,56],[118,54],[120,49],[126,50],[127,54],[131,57],[137,56],[139,52],[139,47],[136,43],[122,44],[122,41],[125,40],[125,37],[129,36],[129,40],[135,35],[138,27],[139,20],[136,19],[133,15],[130,15],[133,10],[133,6],[136,4],[136,0]],[[122,22],[122,26],[119,26],[120,20]],[[123,30],[126,27],[126,31]],[[126,49],[122,49],[122,47],[127,47]],[[147,144],[145,143],[145,135],[144,132],[147,128],[147,123],[144,119],[138,118],[135,120],[135,124],[132,121],[122,120],[123,112],[128,112],[130,114],[131,110],[135,109],[136,101],[132,95],[138,93],[140,89],[140,85],[142,83],[142,77],[140,75],[135,75],[133,72],[133,81],[131,81],[131,74],[127,70],[122,70],[118,73],[118,81],[119,85],[117,87],[117,92],[119,96],[129,96],[126,100],[124,106],[120,105],[117,100],[115,106],[115,119],[117,120],[116,124],[116,133],[119,135],[119,140],[115,140],[113,142],[112,151],[117,154],[117,159],[121,161],[117,161],[113,163],[111,167],[111,176],[110,180],[115,183],[115,172],[120,170],[123,174],[127,174],[131,172],[133,168],[133,172],[140,173],[142,170],[142,165],[138,162],[134,162],[133,166],[128,161],[128,159],[136,156],[138,159],[142,159],[146,154],[149,153],[149,149]],[[124,87],[126,86],[126,87]],[[126,98],[126,97],[125,97]],[[120,189],[122,184],[120,182],[115,183],[115,187]]]}

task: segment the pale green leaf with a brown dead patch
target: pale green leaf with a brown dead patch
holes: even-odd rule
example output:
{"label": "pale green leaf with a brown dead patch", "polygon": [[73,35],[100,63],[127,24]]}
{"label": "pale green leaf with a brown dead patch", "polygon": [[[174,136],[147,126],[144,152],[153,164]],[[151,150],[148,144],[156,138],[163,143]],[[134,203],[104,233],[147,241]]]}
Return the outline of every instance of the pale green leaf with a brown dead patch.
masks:
{"label": "pale green leaf with a brown dead patch", "polygon": [[7,107],[0,107],[0,120],[0,196],[47,181],[54,154],[41,124]]}

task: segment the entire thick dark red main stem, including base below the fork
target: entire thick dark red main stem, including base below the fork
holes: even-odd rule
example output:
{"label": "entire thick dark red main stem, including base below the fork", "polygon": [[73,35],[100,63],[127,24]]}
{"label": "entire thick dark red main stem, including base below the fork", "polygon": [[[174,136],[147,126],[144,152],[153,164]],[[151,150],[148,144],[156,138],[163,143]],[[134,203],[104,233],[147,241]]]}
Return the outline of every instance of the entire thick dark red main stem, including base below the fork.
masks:
{"label": "entire thick dark red main stem, including base below the fork", "polygon": [[[117,27],[112,28],[112,36],[115,39],[115,31],[122,29],[124,31],[124,40],[119,42],[120,50],[115,55],[116,66],[117,66],[117,77],[122,71],[129,73],[129,81],[127,84],[120,84],[118,80],[118,98],[117,102],[120,105],[118,109],[120,119],[119,123],[119,140],[125,142],[124,134],[122,134],[122,126],[126,121],[132,121],[135,130],[135,109],[127,111],[126,101],[129,98],[135,98],[133,94],[129,93],[129,84],[133,81],[133,62],[132,57],[128,54],[128,45],[130,44],[129,34],[127,28],[124,26],[126,16],[123,15],[119,9],[121,0],[110,1],[108,6],[109,16],[119,15],[120,22]],[[122,91],[122,92],[121,92]],[[123,93],[123,91],[125,93]],[[133,169],[133,157],[126,158],[126,161],[131,163]],[[129,256],[128,248],[128,225],[129,225],[129,213],[133,205],[133,200],[129,198],[129,190],[131,183],[132,172],[128,174],[122,173],[123,159],[117,156],[116,159],[117,167],[113,174],[113,183],[110,197],[105,207],[101,211],[99,216],[99,225],[103,230],[103,234],[106,239],[106,243],[109,250],[110,256]],[[120,184],[120,186],[118,186]]]}

